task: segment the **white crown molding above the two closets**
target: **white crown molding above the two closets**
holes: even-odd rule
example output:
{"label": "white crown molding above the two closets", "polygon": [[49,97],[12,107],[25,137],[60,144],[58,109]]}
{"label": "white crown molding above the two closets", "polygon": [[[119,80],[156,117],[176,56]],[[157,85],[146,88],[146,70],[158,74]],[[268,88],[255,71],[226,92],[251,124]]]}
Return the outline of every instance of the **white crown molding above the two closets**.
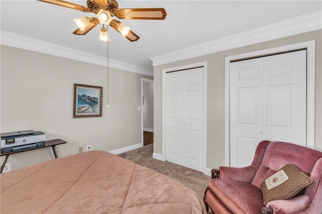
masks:
{"label": "white crown molding above the two closets", "polygon": [[153,66],[322,29],[322,10],[151,57]]}

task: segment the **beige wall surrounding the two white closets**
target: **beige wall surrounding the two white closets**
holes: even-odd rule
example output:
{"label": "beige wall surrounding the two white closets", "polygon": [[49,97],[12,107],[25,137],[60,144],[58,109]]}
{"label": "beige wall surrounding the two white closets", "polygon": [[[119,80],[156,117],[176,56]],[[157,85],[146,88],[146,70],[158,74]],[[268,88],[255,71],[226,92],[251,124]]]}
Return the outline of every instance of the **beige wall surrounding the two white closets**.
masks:
{"label": "beige wall surrounding the two white closets", "polygon": [[162,154],[162,70],[207,62],[207,168],[224,165],[225,57],[315,40],[315,149],[322,151],[322,30],[289,36],[154,67],[154,153]]}

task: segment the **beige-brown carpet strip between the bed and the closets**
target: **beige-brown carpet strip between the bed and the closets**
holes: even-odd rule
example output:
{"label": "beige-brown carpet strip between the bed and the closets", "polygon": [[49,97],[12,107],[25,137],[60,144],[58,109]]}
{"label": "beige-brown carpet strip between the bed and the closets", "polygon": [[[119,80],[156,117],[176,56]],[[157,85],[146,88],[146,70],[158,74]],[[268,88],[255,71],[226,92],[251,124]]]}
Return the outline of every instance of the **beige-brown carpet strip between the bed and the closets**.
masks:
{"label": "beige-brown carpet strip between the bed and the closets", "polygon": [[200,198],[203,199],[210,176],[168,161],[153,159],[152,153],[153,144],[149,144],[142,148],[119,154],[119,156],[179,180],[197,192]]}

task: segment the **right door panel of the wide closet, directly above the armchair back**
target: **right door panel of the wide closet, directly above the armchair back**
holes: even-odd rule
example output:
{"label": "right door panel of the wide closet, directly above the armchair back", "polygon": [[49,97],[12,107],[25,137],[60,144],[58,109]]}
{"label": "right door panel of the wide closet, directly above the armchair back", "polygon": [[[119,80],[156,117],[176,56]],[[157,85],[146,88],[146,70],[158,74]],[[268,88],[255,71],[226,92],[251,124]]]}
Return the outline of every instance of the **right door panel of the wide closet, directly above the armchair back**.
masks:
{"label": "right door panel of the wide closet, directly above the armchair back", "polygon": [[306,50],[263,62],[263,138],[306,147]]}

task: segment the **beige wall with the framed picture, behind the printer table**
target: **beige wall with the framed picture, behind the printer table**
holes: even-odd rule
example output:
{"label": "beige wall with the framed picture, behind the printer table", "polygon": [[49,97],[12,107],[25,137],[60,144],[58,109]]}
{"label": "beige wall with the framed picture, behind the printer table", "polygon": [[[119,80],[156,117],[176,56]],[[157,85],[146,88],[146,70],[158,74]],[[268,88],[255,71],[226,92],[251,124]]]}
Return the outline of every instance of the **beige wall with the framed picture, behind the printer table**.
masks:
{"label": "beige wall with the framed picture, behind the printer table", "polygon": [[[141,78],[150,76],[1,45],[1,133],[41,131],[60,138],[60,157],[141,143]],[[103,117],[72,118],[73,84],[103,86]],[[126,134],[125,134],[126,133]],[[10,155],[12,169],[53,158],[51,148]],[[4,157],[2,157],[2,163]]]}

